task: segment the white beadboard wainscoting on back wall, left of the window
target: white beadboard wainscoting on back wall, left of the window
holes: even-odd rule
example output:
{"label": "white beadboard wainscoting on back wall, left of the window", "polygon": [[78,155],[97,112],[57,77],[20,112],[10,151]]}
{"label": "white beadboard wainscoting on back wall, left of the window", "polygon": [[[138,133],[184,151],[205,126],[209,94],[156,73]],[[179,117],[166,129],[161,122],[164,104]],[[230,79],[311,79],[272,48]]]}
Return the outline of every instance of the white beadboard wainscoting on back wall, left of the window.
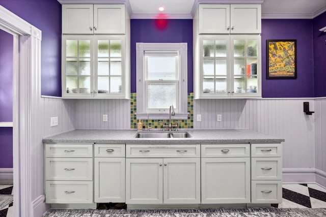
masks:
{"label": "white beadboard wainscoting on back wall, left of the window", "polygon": [[[130,130],[130,100],[74,100],[76,130]],[[107,122],[102,121],[107,114]]]}

